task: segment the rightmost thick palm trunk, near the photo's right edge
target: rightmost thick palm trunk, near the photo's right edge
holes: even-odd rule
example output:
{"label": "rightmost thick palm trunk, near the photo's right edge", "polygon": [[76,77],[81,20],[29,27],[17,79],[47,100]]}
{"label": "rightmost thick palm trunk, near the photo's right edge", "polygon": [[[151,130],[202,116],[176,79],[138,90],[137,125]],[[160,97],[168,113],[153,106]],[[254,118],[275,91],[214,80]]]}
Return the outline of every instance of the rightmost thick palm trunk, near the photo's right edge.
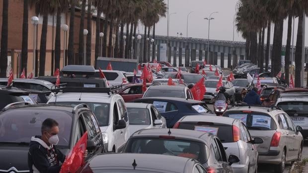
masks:
{"label": "rightmost thick palm trunk, near the photo's right edge", "polygon": [[301,86],[302,71],[302,48],[303,48],[303,15],[299,16],[299,25],[297,30],[297,40],[295,49],[295,87]]}

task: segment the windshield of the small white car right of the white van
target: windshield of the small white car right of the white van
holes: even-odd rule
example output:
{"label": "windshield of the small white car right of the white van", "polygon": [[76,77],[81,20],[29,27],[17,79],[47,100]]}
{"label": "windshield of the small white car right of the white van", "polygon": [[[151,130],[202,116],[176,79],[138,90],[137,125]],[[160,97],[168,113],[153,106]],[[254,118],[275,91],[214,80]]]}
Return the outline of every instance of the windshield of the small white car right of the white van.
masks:
{"label": "windshield of the small white car right of the white van", "polygon": [[150,112],[146,108],[127,108],[129,124],[149,125],[151,124]]}

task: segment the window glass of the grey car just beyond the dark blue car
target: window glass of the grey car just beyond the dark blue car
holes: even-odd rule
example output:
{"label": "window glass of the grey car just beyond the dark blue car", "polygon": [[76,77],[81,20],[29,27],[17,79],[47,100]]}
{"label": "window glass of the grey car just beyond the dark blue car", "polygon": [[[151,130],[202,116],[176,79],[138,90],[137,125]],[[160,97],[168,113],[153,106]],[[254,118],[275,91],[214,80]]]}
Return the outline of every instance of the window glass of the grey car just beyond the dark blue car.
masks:
{"label": "window glass of the grey car just beyond the dark blue car", "polygon": [[175,91],[175,90],[148,90],[144,98],[147,97],[175,97],[175,98],[185,98],[184,91]]}

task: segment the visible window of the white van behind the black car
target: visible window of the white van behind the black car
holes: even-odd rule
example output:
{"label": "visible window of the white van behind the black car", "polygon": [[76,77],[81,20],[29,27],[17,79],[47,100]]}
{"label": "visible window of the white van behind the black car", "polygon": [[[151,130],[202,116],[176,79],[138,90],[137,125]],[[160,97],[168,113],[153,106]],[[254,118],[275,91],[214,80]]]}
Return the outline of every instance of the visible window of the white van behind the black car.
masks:
{"label": "visible window of the white van behind the black car", "polygon": [[[49,104],[54,104],[50,102]],[[99,126],[107,126],[109,124],[109,103],[94,103],[94,102],[57,102],[57,104],[71,105],[73,107],[79,104],[86,104],[94,113]]]}

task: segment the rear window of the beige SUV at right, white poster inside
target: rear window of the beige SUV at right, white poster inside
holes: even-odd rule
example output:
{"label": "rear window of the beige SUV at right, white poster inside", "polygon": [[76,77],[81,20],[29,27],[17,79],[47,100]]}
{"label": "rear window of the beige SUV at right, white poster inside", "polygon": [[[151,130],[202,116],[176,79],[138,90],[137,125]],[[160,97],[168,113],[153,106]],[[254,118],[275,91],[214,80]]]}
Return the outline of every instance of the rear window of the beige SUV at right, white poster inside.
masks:
{"label": "rear window of the beige SUV at right, white poster inside", "polygon": [[267,114],[252,111],[230,111],[224,116],[239,119],[245,123],[249,130],[275,130],[274,119]]}

